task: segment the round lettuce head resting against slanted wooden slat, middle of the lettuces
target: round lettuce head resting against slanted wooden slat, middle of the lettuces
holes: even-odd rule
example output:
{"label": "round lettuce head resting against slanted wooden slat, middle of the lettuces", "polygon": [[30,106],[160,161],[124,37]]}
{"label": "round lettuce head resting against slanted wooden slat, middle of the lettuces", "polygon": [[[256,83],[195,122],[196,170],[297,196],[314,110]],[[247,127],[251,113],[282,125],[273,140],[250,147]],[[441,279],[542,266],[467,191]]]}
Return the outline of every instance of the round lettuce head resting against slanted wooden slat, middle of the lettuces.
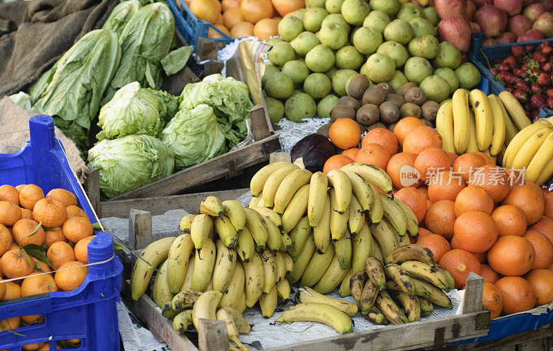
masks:
{"label": "round lettuce head resting against slanted wooden slat, middle of the lettuces", "polygon": [[174,151],[177,167],[194,164],[225,153],[225,135],[218,125],[213,108],[200,104],[182,109],[161,132],[162,142]]}

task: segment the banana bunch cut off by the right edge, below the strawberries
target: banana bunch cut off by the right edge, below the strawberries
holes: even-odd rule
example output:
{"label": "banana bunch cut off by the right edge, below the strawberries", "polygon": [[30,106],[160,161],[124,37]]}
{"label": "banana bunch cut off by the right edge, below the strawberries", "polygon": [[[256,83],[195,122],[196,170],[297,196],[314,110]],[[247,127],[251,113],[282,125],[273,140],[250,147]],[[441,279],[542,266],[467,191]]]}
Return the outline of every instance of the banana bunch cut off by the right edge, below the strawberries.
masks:
{"label": "banana bunch cut off by the right edge, below the strawberries", "polygon": [[553,120],[545,118],[516,133],[505,149],[503,167],[521,171],[541,186],[553,176]]}

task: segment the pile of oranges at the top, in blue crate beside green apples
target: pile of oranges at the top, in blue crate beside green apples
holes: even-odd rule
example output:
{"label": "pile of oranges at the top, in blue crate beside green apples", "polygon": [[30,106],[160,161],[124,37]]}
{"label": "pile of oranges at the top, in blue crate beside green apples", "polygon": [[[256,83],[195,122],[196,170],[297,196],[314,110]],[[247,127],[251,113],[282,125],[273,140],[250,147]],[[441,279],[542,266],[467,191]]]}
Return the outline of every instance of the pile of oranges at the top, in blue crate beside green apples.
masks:
{"label": "pile of oranges at the top, in blue crate beside green apples", "polygon": [[[282,17],[305,8],[304,0],[185,0],[198,19],[212,23],[232,38],[267,40],[278,35]],[[177,4],[180,6],[180,3]],[[223,35],[209,28],[209,38]]]}

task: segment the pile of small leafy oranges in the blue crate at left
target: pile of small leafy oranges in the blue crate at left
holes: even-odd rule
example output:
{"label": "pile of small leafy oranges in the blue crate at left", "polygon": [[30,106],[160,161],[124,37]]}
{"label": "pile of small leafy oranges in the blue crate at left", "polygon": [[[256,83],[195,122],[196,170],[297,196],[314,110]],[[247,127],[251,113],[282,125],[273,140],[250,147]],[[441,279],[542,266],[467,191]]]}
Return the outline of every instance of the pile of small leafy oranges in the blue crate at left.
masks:
{"label": "pile of small leafy oranges in the blue crate at left", "polygon": [[[87,245],[94,236],[88,216],[77,205],[75,195],[65,189],[52,189],[44,196],[35,184],[0,186],[0,277],[21,278],[0,281],[1,301],[71,291],[83,283],[88,269],[82,266],[88,263]],[[26,246],[30,244],[43,247],[48,262],[32,257],[26,247],[33,252],[37,247]],[[35,275],[57,269],[55,274]],[[0,321],[0,331],[19,328],[21,323],[44,323],[44,318],[34,315]]]}

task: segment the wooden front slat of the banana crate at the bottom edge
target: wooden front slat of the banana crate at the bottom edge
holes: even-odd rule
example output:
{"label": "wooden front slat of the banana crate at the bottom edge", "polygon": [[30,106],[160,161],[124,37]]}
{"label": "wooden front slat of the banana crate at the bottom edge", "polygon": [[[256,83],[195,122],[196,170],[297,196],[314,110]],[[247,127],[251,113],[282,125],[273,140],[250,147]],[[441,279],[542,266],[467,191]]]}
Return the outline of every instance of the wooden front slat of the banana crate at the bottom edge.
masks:
{"label": "wooden front slat of the banana crate at the bottom edge", "polygon": [[391,325],[379,330],[353,332],[325,339],[305,341],[268,350],[409,350],[433,346],[434,332],[444,328],[445,341],[485,336],[489,330],[489,312],[473,312],[430,321]]}

